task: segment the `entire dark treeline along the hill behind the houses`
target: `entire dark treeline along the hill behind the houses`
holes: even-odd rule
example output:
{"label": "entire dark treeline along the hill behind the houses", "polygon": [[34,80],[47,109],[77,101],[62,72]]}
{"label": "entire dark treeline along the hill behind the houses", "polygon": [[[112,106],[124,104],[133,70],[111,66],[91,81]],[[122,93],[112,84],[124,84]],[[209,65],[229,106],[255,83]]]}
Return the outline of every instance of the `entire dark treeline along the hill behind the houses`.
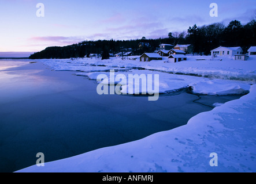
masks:
{"label": "entire dark treeline along the hill behind the houses", "polygon": [[[208,55],[216,47],[240,46],[244,51],[248,47],[256,45],[255,40],[256,21],[251,20],[246,25],[240,21],[231,21],[228,26],[215,23],[203,26],[190,26],[187,32],[170,32],[168,37],[159,39],[137,40],[97,40],[83,41],[78,44],[65,47],[47,47],[43,51],[29,56],[29,59],[65,59],[71,57],[88,57],[90,53],[101,54],[103,59],[109,57],[109,53],[132,51],[133,55],[141,55],[144,52],[154,52],[159,44],[192,44],[194,53]],[[141,44],[147,43],[147,44]]]}

